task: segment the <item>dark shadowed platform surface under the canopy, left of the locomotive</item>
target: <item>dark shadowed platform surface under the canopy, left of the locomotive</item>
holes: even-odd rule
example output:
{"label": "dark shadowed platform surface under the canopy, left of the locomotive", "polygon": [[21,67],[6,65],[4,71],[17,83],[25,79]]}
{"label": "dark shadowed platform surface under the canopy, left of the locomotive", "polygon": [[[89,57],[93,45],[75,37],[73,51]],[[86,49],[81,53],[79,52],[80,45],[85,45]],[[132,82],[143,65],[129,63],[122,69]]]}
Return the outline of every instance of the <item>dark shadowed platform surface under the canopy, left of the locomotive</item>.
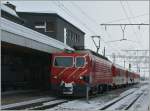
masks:
{"label": "dark shadowed platform surface under the canopy, left of the locomotive", "polygon": [[52,93],[50,91],[42,90],[18,90],[7,91],[1,94],[1,105],[19,103],[38,98],[48,97]]}

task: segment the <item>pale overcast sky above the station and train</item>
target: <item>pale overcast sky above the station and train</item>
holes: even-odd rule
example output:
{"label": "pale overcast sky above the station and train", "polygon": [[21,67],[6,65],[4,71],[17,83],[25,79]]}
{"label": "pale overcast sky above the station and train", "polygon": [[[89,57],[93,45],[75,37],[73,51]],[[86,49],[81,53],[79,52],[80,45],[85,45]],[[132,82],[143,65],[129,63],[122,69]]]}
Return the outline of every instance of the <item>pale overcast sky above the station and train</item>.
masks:
{"label": "pale overcast sky above the station and train", "polygon": [[[7,0],[9,1],[9,0]],[[149,27],[126,26],[125,38],[130,41],[108,42],[123,38],[120,26],[101,26],[102,23],[149,23],[148,1],[12,1],[17,11],[56,12],[83,30],[85,47],[96,51],[92,35],[100,35],[103,53],[127,54],[123,49],[148,49]],[[123,65],[123,62],[116,61]],[[126,65],[128,67],[128,65]]]}

